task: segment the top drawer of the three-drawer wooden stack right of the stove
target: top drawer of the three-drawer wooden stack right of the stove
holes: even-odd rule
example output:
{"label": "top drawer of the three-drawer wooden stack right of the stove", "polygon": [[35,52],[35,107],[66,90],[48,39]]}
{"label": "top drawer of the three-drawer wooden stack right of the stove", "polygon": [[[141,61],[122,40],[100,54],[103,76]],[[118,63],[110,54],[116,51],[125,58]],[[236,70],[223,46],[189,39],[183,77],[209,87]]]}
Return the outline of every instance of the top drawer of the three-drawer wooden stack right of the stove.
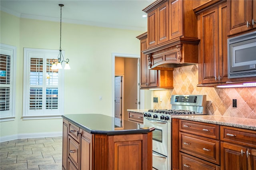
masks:
{"label": "top drawer of the three-drawer wooden stack right of the stove", "polygon": [[220,126],[210,123],[180,120],[180,131],[204,136],[207,138],[219,139]]}

